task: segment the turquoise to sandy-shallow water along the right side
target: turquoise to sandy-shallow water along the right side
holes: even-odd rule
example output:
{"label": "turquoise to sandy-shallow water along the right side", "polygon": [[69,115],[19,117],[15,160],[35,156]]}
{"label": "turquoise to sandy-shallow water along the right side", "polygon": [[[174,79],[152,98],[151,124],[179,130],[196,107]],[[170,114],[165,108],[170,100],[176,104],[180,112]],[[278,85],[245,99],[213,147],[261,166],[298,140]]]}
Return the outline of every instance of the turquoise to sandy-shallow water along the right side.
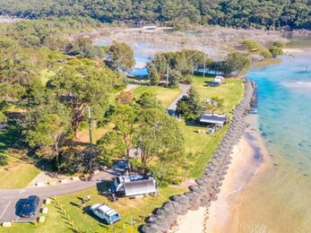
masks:
{"label": "turquoise to sandy-shallow water along the right side", "polygon": [[[269,158],[238,208],[238,232],[311,232],[311,41],[247,73]],[[262,172],[261,172],[262,169]]]}

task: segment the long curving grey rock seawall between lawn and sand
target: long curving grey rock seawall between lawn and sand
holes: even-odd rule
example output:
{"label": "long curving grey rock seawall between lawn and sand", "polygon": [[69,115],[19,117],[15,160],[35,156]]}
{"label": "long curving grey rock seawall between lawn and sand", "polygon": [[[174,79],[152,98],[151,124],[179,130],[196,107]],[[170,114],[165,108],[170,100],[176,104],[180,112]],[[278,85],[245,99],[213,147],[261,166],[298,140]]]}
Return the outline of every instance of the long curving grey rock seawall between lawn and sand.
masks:
{"label": "long curving grey rock seawall between lawn and sand", "polygon": [[172,196],[155,211],[152,220],[143,225],[141,232],[165,232],[177,221],[178,215],[186,215],[187,211],[198,210],[200,206],[208,208],[211,202],[217,200],[221,181],[225,178],[232,160],[231,151],[246,130],[245,116],[256,104],[255,82],[245,80],[244,85],[244,98],[232,111],[233,118],[229,129],[214,152],[212,160],[203,169],[203,176],[195,179],[197,185],[189,186],[189,192],[185,194]]}

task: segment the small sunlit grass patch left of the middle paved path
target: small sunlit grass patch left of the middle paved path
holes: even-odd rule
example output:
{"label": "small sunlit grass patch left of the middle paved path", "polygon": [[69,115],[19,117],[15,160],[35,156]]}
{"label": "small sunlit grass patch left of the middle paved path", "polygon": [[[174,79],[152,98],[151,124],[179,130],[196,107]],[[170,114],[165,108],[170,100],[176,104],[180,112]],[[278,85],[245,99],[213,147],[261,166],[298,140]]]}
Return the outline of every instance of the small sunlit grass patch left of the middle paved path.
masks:
{"label": "small sunlit grass patch left of the middle paved path", "polygon": [[155,86],[140,86],[134,90],[136,98],[139,98],[143,92],[151,92],[157,99],[162,102],[162,105],[165,108],[177,98],[181,93],[179,89],[169,89],[164,87],[155,87]]}

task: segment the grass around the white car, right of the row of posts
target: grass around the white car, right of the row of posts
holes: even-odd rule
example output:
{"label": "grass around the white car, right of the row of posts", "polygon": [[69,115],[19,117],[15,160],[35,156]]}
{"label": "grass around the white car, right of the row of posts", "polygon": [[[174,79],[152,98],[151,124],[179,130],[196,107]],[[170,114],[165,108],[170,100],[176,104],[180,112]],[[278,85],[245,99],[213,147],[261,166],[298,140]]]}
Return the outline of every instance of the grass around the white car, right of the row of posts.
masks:
{"label": "grass around the white car, right of the row of posts", "polygon": [[[142,225],[141,217],[147,217],[151,211],[156,207],[160,207],[160,205],[166,201],[168,201],[168,197],[174,194],[181,194],[186,192],[185,189],[181,188],[161,188],[160,195],[156,199],[152,196],[143,197],[141,199],[119,199],[116,203],[111,203],[108,199],[98,194],[97,188],[92,188],[86,191],[82,191],[77,194],[65,195],[61,197],[57,197],[59,203],[64,205],[65,210],[67,211],[70,218],[73,220],[75,226],[78,229],[81,229],[85,232],[104,232],[105,229],[111,232],[111,229],[114,229],[114,226],[108,226],[99,222],[99,220],[95,219],[93,216],[90,216],[89,208],[93,203],[107,203],[109,207],[118,211],[121,215],[122,221],[116,224],[116,231],[120,232],[121,229],[132,229],[129,224],[131,219],[136,220],[137,224],[134,228],[134,232],[136,229]],[[91,194],[91,203],[86,203],[86,208],[82,211],[81,206],[81,198],[86,198],[87,194]]]}

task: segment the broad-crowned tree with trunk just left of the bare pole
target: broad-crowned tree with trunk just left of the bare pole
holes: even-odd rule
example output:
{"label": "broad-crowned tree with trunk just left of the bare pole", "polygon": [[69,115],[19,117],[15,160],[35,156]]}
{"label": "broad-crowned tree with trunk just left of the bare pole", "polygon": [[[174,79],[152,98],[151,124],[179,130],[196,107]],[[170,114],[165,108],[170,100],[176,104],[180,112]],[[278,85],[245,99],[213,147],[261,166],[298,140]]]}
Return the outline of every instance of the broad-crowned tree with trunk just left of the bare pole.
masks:
{"label": "broad-crowned tree with trunk just left of the bare pole", "polygon": [[85,119],[85,111],[92,108],[94,116],[100,116],[107,105],[108,93],[122,82],[122,76],[102,64],[84,58],[62,64],[51,77],[48,88],[55,91],[71,109],[74,135]]}

